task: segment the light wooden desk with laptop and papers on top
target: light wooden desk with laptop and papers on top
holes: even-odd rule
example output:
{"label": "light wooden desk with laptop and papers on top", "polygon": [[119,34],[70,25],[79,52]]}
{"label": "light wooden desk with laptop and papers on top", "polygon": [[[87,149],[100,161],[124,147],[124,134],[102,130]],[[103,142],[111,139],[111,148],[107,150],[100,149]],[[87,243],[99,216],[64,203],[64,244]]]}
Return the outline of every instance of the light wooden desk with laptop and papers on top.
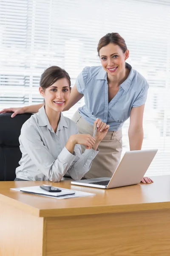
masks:
{"label": "light wooden desk with laptop and papers on top", "polygon": [[[0,256],[169,256],[170,176],[116,189],[0,182]],[[96,193],[57,200],[9,190],[53,184]]]}

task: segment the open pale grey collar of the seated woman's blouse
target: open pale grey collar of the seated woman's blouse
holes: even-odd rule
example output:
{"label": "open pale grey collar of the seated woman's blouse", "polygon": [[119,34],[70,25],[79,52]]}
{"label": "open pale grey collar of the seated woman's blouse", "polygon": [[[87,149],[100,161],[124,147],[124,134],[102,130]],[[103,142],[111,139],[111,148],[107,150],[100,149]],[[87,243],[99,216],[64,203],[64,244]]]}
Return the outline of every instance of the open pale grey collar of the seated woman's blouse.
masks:
{"label": "open pale grey collar of the seated woman's blouse", "polygon": [[[53,131],[53,128],[51,127],[47,114],[45,113],[45,108],[42,106],[42,108],[38,111],[38,124],[39,126],[47,126],[50,131]],[[67,122],[65,121],[65,117],[62,113],[60,113],[59,123],[57,127],[57,131],[62,130],[63,127],[68,128]]]}

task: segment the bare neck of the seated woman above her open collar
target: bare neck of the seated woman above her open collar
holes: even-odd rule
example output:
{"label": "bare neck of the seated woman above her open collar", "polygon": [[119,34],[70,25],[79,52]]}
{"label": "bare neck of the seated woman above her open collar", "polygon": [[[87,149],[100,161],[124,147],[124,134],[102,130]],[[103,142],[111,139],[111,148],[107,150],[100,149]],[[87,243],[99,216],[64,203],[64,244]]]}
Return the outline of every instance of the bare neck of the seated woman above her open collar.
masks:
{"label": "bare neck of the seated woman above her open collar", "polygon": [[51,127],[53,128],[54,132],[56,132],[61,112],[57,112],[54,109],[49,108],[48,106],[45,106],[45,112]]}

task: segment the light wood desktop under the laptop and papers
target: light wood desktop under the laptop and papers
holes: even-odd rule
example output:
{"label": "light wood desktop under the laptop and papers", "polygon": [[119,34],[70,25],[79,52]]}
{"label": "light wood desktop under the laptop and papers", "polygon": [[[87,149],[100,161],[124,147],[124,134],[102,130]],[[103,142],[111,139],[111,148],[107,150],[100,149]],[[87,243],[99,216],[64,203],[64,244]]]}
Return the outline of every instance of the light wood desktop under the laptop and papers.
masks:
{"label": "light wood desktop under the laptop and papers", "polygon": [[[47,181],[0,182],[0,201],[40,217],[100,214],[105,212],[131,212],[152,209],[170,209],[170,175],[153,177],[152,184],[137,184],[115,189],[96,189],[71,185],[64,180],[59,183]],[[66,189],[94,193],[94,196],[57,200],[10,188],[49,184]]]}

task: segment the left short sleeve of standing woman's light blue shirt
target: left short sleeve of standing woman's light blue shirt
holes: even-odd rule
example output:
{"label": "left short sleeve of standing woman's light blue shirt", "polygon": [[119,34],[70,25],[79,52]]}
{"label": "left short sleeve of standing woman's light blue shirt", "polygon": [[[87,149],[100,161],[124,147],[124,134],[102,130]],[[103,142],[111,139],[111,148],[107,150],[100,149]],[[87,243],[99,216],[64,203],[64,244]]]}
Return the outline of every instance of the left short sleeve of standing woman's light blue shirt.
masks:
{"label": "left short sleeve of standing woman's light blue shirt", "polygon": [[76,86],[79,93],[84,94],[85,84],[88,79],[88,72],[90,67],[85,67],[76,79]]}

